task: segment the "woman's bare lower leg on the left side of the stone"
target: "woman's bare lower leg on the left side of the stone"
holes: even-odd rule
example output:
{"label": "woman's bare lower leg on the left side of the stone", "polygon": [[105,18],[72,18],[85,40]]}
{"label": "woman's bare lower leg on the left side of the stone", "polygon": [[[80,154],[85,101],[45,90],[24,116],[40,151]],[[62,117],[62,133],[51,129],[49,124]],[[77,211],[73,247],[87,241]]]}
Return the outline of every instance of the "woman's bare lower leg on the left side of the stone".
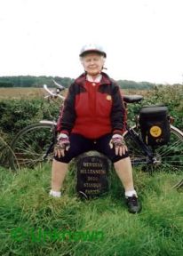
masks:
{"label": "woman's bare lower leg on the left side of the stone", "polygon": [[68,164],[60,163],[53,159],[52,161],[52,190],[60,191],[62,183],[68,172]]}

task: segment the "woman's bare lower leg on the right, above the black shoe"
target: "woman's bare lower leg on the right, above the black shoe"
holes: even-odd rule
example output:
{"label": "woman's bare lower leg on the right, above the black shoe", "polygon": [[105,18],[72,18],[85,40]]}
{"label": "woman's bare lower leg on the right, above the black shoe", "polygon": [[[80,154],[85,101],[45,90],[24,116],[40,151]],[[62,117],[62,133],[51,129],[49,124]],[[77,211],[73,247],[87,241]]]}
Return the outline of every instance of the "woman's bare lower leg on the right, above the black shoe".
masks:
{"label": "woman's bare lower leg on the right, above the black shoe", "polygon": [[115,172],[122,181],[125,191],[134,190],[130,157],[115,162]]}

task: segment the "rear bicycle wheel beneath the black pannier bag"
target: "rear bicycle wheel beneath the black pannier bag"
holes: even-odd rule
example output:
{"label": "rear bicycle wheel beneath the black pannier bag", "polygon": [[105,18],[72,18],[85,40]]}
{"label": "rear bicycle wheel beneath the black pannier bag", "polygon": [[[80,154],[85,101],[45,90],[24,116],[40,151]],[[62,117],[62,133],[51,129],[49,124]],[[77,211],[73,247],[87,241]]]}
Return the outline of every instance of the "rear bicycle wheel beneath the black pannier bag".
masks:
{"label": "rear bicycle wheel beneath the black pannier bag", "polygon": [[[135,126],[131,129],[139,133]],[[139,147],[137,142],[131,138],[129,132],[124,134],[124,139],[129,149],[132,165],[141,165],[146,166],[147,168],[151,165],[153,170],[183,170],[183,132],[179,131],[178,128],[171,125],[171,140],[167,145],[152,148],[156,159],[154,164],[149,163],[148,157],[144,156],[142,149]]]}

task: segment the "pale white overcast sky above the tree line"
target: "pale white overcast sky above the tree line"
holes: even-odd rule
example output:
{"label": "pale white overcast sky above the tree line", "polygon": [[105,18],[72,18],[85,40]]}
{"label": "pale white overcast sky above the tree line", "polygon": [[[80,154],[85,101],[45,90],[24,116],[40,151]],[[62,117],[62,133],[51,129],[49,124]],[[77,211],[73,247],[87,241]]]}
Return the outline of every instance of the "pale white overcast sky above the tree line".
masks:
{"label": "pale white overcast sky above the tree line", "polygon": [[0,76],[83,72],[83,44],[102,44],[114,79],[183,81],[182,0],[0,0]]}

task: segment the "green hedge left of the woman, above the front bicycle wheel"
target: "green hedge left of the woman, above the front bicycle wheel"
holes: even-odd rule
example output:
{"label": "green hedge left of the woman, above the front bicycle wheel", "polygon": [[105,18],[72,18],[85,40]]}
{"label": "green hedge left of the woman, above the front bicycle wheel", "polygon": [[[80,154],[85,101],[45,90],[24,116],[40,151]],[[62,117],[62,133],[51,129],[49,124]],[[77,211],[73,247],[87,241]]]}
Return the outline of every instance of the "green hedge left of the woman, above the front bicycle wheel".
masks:
{"label": "green hedge left of the woman, above the front bicycle wheel", "polygon": [[[0,133],[7,141],[28,124],[59,116],[60,103],[51,104],[44,99],[0,101]],[[54,117],[53,117],[54,116]],[[2,135],[3,134],[3,135]]]}

